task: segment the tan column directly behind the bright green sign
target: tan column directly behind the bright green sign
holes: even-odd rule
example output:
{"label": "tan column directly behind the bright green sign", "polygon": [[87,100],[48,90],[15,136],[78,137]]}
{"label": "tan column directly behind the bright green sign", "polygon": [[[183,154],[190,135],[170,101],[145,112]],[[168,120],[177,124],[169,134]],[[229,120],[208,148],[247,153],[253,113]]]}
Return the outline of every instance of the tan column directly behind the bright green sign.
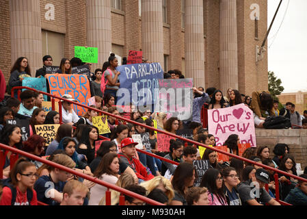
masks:
{"label": "tan column directly behind the bright green sign", "polygon": [[87,46],[98,47],[98,64],[101,68],[111,51],[111,1],[87,0]]}

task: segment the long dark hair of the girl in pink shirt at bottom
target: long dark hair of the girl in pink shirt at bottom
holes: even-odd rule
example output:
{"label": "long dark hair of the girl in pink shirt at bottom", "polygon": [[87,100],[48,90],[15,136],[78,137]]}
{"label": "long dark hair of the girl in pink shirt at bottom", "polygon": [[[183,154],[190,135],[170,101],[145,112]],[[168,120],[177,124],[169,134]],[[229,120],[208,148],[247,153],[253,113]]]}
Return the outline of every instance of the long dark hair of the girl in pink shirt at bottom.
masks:
{"label": "long dark hair of the girl in pink shirt at bottom", "polygon": [[212,194],[215,194],[216,196],[222,196],[225,198],[224,192],[222,188],[217,188],[216,180],[217,176],[222,174],[219,172],[219,170],[215,168],[210,168],[204,172],[204,175],[202,176],[202,181],[200,182],[200,187],[206,187],[209,192]]}

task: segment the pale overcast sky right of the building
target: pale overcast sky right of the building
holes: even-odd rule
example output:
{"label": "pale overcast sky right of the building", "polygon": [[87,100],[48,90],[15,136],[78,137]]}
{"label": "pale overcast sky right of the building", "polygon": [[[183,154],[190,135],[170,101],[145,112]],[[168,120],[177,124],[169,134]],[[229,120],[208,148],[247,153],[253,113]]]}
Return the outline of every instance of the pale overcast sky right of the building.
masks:
{"label": "pale overcast sky right of the building", "polygon": [[[267,28],[279,3],[268,0]],[[268,36],[268,70],[281,79],[284,93],[307,92],[306,10],[307,0],[283,0]]]}

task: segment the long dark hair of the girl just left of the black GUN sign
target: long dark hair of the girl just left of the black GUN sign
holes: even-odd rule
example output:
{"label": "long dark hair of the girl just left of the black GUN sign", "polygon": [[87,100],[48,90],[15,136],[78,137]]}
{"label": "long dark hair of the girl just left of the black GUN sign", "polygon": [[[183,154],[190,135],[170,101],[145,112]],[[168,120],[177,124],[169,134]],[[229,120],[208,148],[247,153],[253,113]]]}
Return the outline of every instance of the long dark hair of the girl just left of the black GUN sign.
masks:
{"label": "long dark hair of the girl just left of the black GUN sign", "polygon": [[[187,187],[187,183],[193,177],[193,170],[195,170],[195,167],[193,166],[193,164],[183,162],[177,166],[174,172],[173,179],[172,179],[172,186],[174,190],[176,190],[183,196],[185,196],[184,191],[185,191],[185,188]],[[195,174],[196,174],[196,171],[195,171]]]}

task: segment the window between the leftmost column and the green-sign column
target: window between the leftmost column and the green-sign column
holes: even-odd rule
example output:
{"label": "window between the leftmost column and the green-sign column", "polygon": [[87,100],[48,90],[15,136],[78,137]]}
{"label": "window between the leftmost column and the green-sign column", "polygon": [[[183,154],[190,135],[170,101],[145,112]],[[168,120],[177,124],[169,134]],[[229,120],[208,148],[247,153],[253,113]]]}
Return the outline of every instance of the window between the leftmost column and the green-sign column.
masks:
{"label": "window between the leftmost column and the green-sign column", "polygon": [[64,34],[42,29],[42,56],[51,55],[53,66],[59,66],[64,57]]}

